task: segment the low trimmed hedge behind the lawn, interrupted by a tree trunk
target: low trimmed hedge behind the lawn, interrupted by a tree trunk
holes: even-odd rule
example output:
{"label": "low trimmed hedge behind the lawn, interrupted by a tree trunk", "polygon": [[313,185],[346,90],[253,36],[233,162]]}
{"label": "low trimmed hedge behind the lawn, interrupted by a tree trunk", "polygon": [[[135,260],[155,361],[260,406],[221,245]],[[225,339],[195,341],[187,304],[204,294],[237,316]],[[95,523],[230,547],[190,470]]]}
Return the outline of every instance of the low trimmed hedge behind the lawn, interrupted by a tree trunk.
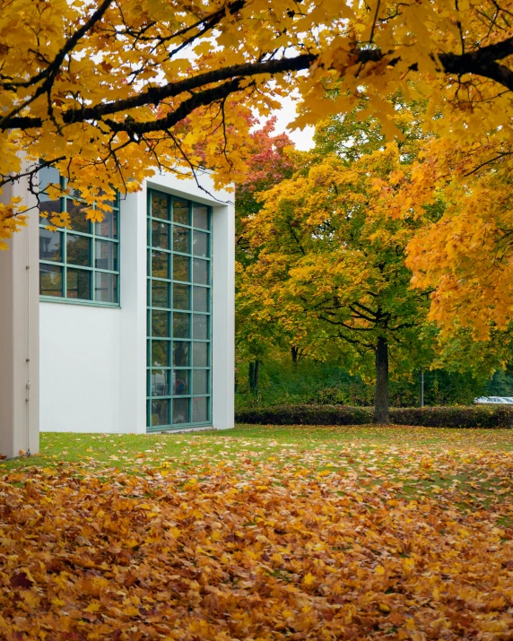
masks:
{"label": "low trimmed hedge behind the lawn, interrupted by a tree trunk", "polygon": [[[366,425],[374,422],[374,408],[347,405],[280,405],[239,410],[238,423],[259,425]],[[426,428],[512,428],[513,406],[393,407],[390,422]]]}

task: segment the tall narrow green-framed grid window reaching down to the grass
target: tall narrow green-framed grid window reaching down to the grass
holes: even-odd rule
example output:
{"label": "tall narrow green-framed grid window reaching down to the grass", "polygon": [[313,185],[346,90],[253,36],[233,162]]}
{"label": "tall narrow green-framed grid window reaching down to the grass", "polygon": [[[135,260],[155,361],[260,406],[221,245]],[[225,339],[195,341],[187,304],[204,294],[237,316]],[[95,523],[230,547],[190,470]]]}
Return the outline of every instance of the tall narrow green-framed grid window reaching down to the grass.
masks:
{"label": "tall narrow green-framed grid window reaching down to the grass", "polygon": [[149,430],[212,422],[211,220],[204,204],[149,191]]}

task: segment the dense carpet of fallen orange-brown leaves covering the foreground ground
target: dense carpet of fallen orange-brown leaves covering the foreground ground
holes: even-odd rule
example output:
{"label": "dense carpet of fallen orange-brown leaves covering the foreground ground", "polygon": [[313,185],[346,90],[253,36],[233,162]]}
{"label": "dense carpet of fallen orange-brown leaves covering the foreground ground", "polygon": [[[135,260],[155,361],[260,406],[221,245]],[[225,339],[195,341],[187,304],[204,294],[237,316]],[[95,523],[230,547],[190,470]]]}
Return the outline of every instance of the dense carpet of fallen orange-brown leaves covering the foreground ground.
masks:
{"label": "dense carpet of fallen orange-brown leaves covering the foreground ground", "polygon": [[0,637],[513,638],[513,455],[287,451],[4,475]]}

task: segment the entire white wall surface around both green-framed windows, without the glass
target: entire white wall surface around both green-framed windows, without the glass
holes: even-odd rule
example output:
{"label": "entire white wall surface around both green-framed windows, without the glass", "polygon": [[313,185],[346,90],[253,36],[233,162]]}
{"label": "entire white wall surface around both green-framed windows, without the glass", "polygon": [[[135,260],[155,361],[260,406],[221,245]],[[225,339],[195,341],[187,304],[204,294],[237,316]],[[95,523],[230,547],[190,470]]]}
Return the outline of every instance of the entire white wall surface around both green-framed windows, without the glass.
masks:
{"label": "entire white wall surface around both green-framed windows, without the glass", "polygon": [[121,308],[40,303],[40,425],[48,431],[146,431],[146,195],[152,186],[213,207],[213,427],[233,427],[233,195],[204,174],[157,175],[121,201]]}

